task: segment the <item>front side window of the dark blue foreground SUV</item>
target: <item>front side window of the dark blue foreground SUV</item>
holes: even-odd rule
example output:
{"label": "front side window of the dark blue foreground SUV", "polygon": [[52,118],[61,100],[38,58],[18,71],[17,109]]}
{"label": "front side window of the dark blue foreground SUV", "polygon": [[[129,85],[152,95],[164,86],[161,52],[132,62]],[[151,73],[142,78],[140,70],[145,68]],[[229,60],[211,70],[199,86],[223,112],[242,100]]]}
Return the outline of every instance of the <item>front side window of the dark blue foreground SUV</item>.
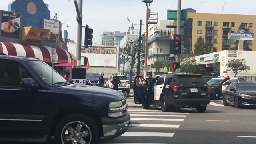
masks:
{"label": "front side window of the dark blue foreground SUV", "polygon": [[22,88],[22,80],[32,75],[18,62],[0,61],[0,87]]}

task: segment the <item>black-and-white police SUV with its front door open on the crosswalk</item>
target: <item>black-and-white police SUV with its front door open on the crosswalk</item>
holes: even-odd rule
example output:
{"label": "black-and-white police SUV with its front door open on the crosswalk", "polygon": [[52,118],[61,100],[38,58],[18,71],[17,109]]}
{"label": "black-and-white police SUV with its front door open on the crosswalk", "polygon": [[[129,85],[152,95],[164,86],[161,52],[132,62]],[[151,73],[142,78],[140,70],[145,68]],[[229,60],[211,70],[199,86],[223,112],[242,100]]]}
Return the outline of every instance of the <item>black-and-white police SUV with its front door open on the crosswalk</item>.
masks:
{"label": "black-and-white police SUV with its front door open on the crosswalk", "polygon": [[163,112],[180,107],[204,112],[210,103],[209,87],[199,74],[164,74],[144,86],[136,84],[139,77],[134,80],[134,103],[142,104],[144,109],[157,105]]}

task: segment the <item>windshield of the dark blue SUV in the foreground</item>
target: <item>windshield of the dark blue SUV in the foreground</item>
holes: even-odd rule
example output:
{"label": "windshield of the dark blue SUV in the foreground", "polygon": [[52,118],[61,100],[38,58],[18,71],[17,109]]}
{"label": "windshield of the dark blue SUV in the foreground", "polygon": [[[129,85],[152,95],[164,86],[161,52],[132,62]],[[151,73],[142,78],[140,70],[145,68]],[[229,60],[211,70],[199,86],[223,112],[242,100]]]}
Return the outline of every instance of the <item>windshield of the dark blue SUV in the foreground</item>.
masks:
{"label": "windshield of the dark blue SUV in the foreground", "polygon": [[58,72],[42,61],[28,61],[28,65],[38,74],[38,76],[48,85],[68,84]]}

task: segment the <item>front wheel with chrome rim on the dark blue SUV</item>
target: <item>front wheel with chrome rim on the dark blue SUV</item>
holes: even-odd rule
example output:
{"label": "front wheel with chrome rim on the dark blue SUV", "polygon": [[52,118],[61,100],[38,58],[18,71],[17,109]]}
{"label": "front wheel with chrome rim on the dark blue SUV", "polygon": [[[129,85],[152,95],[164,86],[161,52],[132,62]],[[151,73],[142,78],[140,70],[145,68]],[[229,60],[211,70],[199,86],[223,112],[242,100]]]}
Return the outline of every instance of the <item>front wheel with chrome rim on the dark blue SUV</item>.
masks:
{"label": "front wheel with chrome rim on the dark blue SUV", "polygon": [[[79,127],[78,124],[82,126]],[[68,128],[72,129],[68,130]],[[65,134],[66,132],[68,132],[67,135]],[[67,138],[67,136],[70,136],[70,138]],[[55,144],[63,144],[62,141],[64,141],[65,137],[68,139],[66,142],[73,142],[72,138],[77,138],[78,143],[85,140],[90,144],[98,144],[100,133],[95,120],[82,114],[72,114],[66,116],[56,126],[54,132]]]}

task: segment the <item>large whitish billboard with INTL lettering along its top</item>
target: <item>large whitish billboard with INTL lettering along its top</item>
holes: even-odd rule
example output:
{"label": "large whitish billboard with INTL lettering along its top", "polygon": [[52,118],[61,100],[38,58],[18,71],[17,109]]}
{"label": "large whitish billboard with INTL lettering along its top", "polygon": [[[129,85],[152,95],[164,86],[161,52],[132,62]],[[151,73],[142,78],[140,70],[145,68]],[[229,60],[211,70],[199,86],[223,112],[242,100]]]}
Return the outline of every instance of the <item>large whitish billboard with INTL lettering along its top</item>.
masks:
{"label": "large whitish billboard with INTL lettering along its top", "polygon": [[88,58],[90,66],[116,67],[116,48],[113,47],[82,46],[81,56]]}

